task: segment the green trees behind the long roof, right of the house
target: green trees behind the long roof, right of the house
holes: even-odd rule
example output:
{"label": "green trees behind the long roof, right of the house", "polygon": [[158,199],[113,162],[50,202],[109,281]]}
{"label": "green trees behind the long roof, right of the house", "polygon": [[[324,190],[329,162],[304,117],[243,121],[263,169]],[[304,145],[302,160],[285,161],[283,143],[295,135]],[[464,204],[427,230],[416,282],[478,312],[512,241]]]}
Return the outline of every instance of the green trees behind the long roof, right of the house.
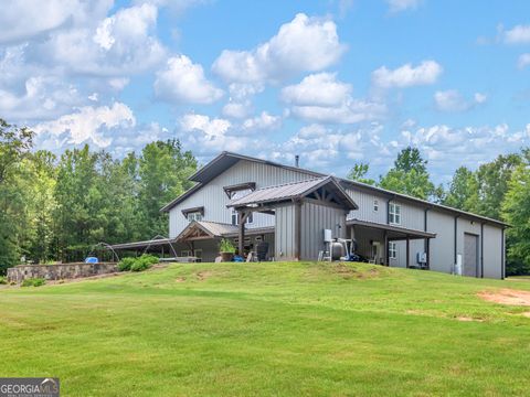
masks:
{"label": "green trees behind the long roof, right of the house", "polygon": [[507,273],[530,273],[530,149],[498,155],[476,171],[460,167],[446,186],[432,182],[427,161],[412,147],[379,180],[368,172],[368,163],[357,163],[348,178],[508,223]]}

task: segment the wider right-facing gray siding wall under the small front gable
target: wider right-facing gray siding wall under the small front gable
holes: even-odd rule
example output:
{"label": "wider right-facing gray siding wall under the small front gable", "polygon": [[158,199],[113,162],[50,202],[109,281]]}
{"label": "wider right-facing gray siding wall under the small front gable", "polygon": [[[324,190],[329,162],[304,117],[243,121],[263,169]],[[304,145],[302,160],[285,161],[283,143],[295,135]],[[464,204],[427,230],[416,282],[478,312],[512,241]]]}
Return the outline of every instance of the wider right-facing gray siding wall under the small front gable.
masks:
{"label": "wider right-facing gray siding wall under the small front gable", "polygon": [[301,205],[300,257],[316,260],[324,250],[324,229],[331,229],[333,237],[346,237],[346,213],[343,210],[304,203]]}

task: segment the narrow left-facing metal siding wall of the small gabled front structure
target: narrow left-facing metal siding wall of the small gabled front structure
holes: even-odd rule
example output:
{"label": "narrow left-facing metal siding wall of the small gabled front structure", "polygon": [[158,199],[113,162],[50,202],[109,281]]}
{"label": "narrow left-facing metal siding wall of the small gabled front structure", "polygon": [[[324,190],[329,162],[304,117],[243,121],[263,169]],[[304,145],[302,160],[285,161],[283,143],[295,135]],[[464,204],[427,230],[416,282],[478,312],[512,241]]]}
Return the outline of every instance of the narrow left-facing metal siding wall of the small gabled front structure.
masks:
{"label": "narrow left-facing metal siding wall of the small gabled front structure", "polygon": [[275,258],[276,260],[295,259],[295,205],[276,208]]}

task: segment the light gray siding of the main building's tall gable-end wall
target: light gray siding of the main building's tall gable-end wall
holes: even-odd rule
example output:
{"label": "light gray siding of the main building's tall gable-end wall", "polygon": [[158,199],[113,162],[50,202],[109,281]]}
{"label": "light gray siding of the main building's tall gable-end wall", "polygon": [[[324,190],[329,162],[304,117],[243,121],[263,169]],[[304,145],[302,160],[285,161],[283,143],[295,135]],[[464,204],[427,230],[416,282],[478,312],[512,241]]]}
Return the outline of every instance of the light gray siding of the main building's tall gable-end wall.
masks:
{"label": "light gray siding of the main building's tall gable-end wall", "polygon": [[[287,183],[305,181],[312,178],[300,170],[286,170],[279,167],[261,164],[247,160],[240,160],[235,165],[210,181],[198,192],[189,196],[169,212],[169,237],[174,238],[188,225],[188,219],[182,215],[182,210],[204,206],[204,221],[227,223],[232,222],[232,210],[226,208],[230,198],[223,191],[224,186],[244,182],[256,182],[256,189]],[[247,225],[252,227],[274,226],[274,216],[267,214],[254,214],[254,222]]]}

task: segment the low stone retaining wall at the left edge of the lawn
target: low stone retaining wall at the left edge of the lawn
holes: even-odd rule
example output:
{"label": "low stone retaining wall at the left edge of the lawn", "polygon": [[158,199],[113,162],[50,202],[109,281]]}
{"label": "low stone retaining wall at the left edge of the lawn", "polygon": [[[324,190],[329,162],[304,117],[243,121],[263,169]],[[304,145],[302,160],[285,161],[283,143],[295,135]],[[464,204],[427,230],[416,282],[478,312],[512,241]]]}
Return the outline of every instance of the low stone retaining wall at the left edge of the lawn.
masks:
{"label": "low stone retaining wall at the left edge of the lawn", "polygon": [[19,265],[8,269],[8,281],[17,283],[26,278],[44,278],[46,280],[74,279],[106,275],[118,271],[115,262],[100,264],[61,264],[61,265]]}

